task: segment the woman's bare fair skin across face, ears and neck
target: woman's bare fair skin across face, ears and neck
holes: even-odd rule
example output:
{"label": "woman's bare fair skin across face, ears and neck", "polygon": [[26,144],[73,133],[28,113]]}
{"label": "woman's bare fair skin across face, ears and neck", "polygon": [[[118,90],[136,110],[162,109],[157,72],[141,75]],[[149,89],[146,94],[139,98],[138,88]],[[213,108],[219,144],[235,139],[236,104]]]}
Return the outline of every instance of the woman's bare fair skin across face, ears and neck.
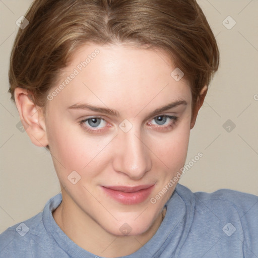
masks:
{"label": "woman's bare fair skin across face, ears and neck", "polygon": [[[185,164],[190,129],[207,87],[191,116],[190,87],[184,78],[176,82],[170,76],[176,67],[162,50],[124,43],[87,44],[76,52],[49,93],[96,48],[100,53],[88,66],[47,101],[45,116],[43,109],[28,97],[27,90],[17,88],[15,100],[31,141],[40,147],[49,145],[62,189],[62,202],[53,212],[54,220],[82,248],[95,255],[116,257],[141,248],[159,228],[163,207],[175,185],[156,204],[150,199]],[[178,100],[187,104],[149,117],[155,109]],[[110,108],[119,116],[69,109],[78,103]],[[177,116],[178,121],[162,117],[164,124],[159,124],[159,115]],[[94,116],[104,119],[98,120],[98,133],[86,131],[87,126],[89,130],[96,129],[90,127],[89,120],[81,123]],[[124,119],[133,125],[127,133],[119,128]],[[76,184],[68,180],[72,171],[81,176]],[[145,184],[155,184],[151,195],[133,205],[118,203],[101,188]],[[119,230],[124,223],[131,227],[126,235]]]}

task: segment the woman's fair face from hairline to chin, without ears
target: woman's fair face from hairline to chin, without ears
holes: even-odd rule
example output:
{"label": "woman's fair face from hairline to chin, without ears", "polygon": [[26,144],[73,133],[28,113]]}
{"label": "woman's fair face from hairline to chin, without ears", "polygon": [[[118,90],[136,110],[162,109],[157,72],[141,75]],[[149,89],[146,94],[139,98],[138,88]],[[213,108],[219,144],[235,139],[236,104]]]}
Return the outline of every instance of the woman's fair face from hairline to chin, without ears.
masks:
{"label": "woman's fair face from hairline to chin, without ears", "polygon": [[46,133],[63,203],[111,234],[146,232],[185,163],[191,91],[174,69],[162,51],[88,44],[49,91]]}

